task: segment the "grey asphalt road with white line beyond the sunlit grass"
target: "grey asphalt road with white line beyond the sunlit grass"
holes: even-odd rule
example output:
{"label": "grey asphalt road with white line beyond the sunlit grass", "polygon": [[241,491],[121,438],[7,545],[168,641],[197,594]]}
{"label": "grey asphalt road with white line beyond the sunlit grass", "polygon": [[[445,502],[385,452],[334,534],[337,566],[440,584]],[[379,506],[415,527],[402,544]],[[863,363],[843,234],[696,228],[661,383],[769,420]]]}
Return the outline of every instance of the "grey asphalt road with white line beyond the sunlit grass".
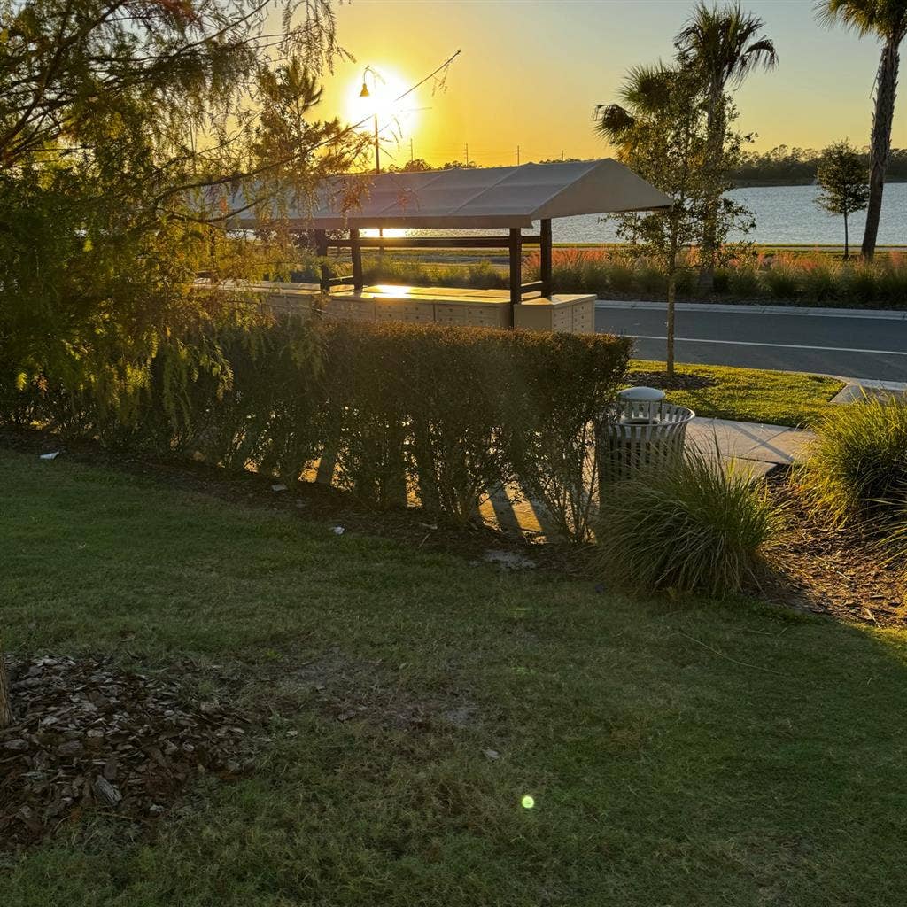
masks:
{"label": "grey asphalt road with white line beyond the sunlit grass", "polygon": [[[665,357],[665,310],[599,302],[600,331],[637,337],[636,356]],[[678,362],[907,381],[907,318],[794,314],[766,307],[678,307]]]}

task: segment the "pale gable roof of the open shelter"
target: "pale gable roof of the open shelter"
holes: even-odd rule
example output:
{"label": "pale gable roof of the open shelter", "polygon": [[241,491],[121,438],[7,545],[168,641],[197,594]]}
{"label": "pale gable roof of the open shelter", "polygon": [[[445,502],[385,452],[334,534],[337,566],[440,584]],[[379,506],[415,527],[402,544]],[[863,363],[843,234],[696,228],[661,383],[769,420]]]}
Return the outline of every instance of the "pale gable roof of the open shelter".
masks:
{"label": "pale gable roof of the open shelter", "polygon": [[530,227],[533,220],[658,210],[672,203],[623,164],[603,159],[334,177],[307,206],[283,200],[234,222],[253,227],[279,219],[307,229]]}

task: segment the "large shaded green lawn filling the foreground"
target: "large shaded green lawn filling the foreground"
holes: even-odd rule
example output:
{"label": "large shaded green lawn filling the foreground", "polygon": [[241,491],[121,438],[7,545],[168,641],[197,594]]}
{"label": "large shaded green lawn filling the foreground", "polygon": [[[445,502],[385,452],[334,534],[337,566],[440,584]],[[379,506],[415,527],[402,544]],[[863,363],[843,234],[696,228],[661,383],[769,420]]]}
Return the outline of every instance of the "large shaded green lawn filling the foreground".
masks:
{"label": "large shaded green lawn filling the foreground", "polygon": [[[151,843],[85,816],[0,855],[4,904],[907,901],[904,633],[611,598],[65,455],[0,451],[0,489],[9,649],[229,668],[276,741]],[[322,661],[360,717],[299,679]]]}

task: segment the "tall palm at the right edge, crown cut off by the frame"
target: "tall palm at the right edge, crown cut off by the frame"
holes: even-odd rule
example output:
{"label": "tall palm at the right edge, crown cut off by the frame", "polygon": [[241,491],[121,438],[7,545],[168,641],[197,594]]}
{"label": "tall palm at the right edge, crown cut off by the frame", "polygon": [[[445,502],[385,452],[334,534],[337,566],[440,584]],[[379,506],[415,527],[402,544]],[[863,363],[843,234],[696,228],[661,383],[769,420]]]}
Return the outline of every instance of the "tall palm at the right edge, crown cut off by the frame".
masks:
{"label": "tall palm at the right edge, crown cut off by the frame", "polygon": [[861,37],[876,34],[882,40],[882,59],[875,77],[875,111],[869,144],[869,204],[863,233],[863,258],[873,258],[882,214],[885,170],[892,149],[894,95],[898,89],[898,48],[907,34],[907,0],[823,0],[816,5],[827,24],[843,24]]}

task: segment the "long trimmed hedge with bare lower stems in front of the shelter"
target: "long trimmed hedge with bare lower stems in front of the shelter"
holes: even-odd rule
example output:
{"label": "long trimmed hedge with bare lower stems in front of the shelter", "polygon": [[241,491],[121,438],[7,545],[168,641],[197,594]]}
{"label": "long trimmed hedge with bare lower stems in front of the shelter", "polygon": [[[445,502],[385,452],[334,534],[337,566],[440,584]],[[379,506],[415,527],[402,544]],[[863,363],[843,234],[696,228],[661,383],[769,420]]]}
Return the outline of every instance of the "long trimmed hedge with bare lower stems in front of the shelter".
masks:
{"label": "long trimmed hedge with bare lower stems in front of the shelter", "polygon": [[[588,535],[594,479],[590,422],[613,400],[630,355],[629,339],[615,336],[292,317],[179,346],[216,348],[208,358],[218,367],[176,382],[173,344],[162,344],[129,420],[84,388],[33,389],[30,418],[288,482],[323,458],[337,483],[375,506],[415,494],[457,522],[489,489],[516,482],[578,539]],[[4,416],[22,403],[18,395]]]}

